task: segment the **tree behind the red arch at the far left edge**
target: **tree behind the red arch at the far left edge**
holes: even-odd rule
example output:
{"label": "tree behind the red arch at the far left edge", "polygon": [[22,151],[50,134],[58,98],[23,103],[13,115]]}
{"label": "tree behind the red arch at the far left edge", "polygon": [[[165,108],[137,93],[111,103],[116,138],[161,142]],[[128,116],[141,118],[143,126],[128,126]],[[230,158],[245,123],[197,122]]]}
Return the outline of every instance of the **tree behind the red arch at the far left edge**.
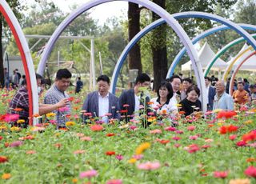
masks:
{"label": "tree behind the red arch at the far left edge", "polygon": [[[20,19],[21,18],[21,10],[24,9],[24,6],[21,5],[21,3],[18,0],[6,0],[6,2],[9,4],[10,8],[14,11],[15,16]],[[2,14],[0,14],[0,86],[4,86],[4,68],[3,68],[3,53],[2,50],[5,50],[4,46],[6,44],[7,39],[10,37],[10,29],[7,25],[5,18]]]}

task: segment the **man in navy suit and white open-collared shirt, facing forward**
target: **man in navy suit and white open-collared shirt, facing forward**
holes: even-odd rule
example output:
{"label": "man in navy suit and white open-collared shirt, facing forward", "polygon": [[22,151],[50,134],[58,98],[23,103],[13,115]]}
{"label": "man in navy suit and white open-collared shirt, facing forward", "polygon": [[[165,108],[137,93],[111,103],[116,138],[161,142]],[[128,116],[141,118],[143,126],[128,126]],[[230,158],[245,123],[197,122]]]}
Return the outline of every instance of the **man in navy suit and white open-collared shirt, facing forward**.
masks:
{"label": "man in navy suit and white open-collared shirt, facing forward", "polygon": [[97,82],[98,90],[87,95],[82,110],[91,113],[93,117],[102,118],[103,122],[108,122],[110,118],[120,119],[118,98],[109,92],[110,78],[101,75]]}

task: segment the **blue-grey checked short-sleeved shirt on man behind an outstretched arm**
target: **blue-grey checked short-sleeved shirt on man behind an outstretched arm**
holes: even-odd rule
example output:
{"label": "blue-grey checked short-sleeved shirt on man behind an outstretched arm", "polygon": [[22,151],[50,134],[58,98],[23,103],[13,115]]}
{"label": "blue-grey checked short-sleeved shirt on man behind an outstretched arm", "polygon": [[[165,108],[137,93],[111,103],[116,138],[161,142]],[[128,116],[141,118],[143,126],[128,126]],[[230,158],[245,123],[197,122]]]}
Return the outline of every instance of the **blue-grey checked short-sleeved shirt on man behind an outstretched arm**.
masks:
{"label": "blue-grey checked short-sleeved shirt on man behind an outstretched arm", "polygon": [[[69,98],[70,96],[66,94],[66,92],[62,92],[58,90],[57,86],[54,84],[50,87],[49,90],[47,90],[44,103],[45,104],[55,104],[62,100],[62,98]],[[67,122],[66,114],[70,114],[70,105],[68,106],[69,110],[67,111],[60,111],[60,110],[54,110],[53,112],[56,114],[56,121],[58,122],[58,125],[65,125]]]}

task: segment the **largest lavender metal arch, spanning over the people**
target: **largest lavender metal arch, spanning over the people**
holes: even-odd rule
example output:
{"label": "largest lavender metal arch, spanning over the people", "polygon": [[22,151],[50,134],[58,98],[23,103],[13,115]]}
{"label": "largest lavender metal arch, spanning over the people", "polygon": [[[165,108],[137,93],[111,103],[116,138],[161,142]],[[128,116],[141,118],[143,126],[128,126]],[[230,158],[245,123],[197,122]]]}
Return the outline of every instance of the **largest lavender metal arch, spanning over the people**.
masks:
{"label": "largest lavender metal arch, spanning over the people", "polygon": [[[186,34],[186,32],[182,29],[182,26],[178,24],[178,22],[168,13],[166,10],[163,10],[162,7],[156,5],[154,2],[150,1],[143,1],[143,0],[119,0],[124,2],[134,2],[137,4],[140,4],[142,6],[145,6],[146,8],[153,10],[156,14],[158,14],[160,17],[166,20],[166,22],[172,27],[172,29],[178,34],[178,37],[181,38],[182,43],[184,46],[186,46],[187,52],[190,56],[190,59],[192,61],[192,66],[195,71],[195,76],[198,80],[198,86],[202,91],[202,104],[203,104],[203,110],[206,110],[206,94],[204,93],[206,91],[206,86],[204,84],[204,78],[202,74],[202,66],[201,63],[198,61],[198,54],[196,50],[194,49],[194,46],[192,42],[190,41],[190,38]],[[86,10],[89,10],[90,8],[97,6],[99,4],[105,3],[105,2],[113,2],[113,0],[94,0],[85,3],[84,5],[78,7],[77,10],[74,10],[73,13],[71,13],[68,17],[65,18],[65,20],[58,26],[58,28],[54,31],[54,34],[51,36],[49,42],[47,42],[46,49],[44,50],[42,54],[42,58],[38,65],[38,73],[42,74],[43,69],[46,66],[46,59],[48,58],[50,51],[53,49],[54,43],[57,41],[57,38],[62,34],[62,31],[74,20],[74,18],[77,18],[80,14],[85,12]]]}

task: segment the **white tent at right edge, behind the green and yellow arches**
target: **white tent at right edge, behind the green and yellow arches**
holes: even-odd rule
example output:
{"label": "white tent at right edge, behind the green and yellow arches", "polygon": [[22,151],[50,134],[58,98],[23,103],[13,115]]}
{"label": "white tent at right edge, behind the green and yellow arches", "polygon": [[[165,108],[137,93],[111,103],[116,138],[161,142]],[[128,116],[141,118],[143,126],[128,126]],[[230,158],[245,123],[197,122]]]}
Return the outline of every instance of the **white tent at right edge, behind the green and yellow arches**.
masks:
{"label": "white tent at right edge, behind the green and yellow arches", "polygon": [[[245,44],[244,46],[242,46],[242,49],[238,52],[238,54],[241,54],[243,50],[246,50],[248,48],[247,44]],[[252,50],[248,50],[245,54],[243,54],[240,58],[238,58],[238,60],[234,63],[233,66],[233,70],[234,68],[236,68],[245,58],[247,58],[248,55],[252,54],[253,51]],[[237,54],[237,56],[238,56]],[[234,57],[236,58],[236,56]],[[227,64],[230,64],[230,62],[233,62],[234,58],[231,58],[229,62],[227,62]],[[256,71],[256,56],[253,55],[251,56],[249,59],[246,60],[246,62],[244,62],[242,64],[242,66],[240,67],[239,70],[247,70],[247,71]]]}

